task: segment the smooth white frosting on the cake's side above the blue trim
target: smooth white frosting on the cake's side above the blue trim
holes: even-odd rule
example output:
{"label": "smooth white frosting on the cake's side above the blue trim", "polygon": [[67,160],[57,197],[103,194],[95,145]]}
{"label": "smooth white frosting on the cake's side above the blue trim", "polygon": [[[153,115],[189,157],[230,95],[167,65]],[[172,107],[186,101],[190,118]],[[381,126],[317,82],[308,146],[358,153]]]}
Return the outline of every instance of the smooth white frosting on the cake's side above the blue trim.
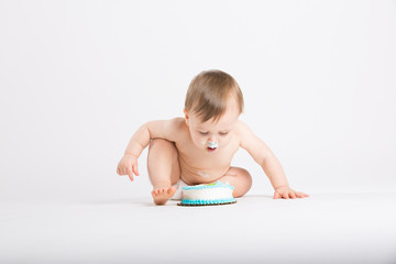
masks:
{"label": "smooth white frosting on the cake's side above the blue trim", "polygon": [[232,198],[233,189],[228,187],[206,189],[183,189],[183,199],[186,200],[217,200]]}

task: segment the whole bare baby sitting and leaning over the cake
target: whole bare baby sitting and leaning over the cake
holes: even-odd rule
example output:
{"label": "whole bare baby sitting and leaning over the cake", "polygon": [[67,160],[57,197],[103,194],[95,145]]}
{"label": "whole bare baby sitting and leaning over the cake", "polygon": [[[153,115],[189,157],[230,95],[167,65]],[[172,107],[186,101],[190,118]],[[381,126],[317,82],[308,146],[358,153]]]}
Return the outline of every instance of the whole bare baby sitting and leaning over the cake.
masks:
{"label": "whole bare baby sitting and leaning over the cake", "polygon": [[270,178],[274,199],[308,197],[289,187],[268,146],[239,121],[242,111],[243,96],[234,78],[221,70],[202,72],[189,85],[185,117],[143,124],[129,142],[117,173],[131,180],[139,176],[138,158],[150,144],[147,168],[155,205],[165,205],[176,187],[217,180],[230,183],[232,195],[241,197],[252,186],[246,169],[231,167],[233,155],[242,147]]}

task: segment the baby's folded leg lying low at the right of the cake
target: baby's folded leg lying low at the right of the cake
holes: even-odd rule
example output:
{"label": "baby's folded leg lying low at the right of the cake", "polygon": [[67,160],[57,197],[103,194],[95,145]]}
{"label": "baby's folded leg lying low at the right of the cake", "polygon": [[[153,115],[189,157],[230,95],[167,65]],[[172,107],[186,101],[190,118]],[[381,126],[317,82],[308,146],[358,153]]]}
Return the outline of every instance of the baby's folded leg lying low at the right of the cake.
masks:
{"label": "baby's folded leg lying low at the right of the cake", "polygon": [[230,183],[235,187],[232,193],[233,197],[243,196],[252,187],[252,176],[246,169],[240,167],[230,167],[219,180],[223,184]]}

